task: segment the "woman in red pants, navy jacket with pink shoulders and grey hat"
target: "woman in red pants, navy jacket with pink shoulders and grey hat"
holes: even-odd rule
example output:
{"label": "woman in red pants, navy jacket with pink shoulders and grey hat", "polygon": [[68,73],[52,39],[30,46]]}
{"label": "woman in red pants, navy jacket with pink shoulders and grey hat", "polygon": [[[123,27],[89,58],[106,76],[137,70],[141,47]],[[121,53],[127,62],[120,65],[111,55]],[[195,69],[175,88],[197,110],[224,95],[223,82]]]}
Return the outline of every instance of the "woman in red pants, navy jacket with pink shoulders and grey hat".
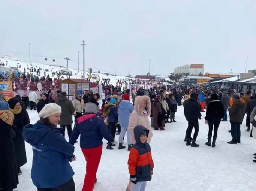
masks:
{"label": "woman in red pants, navy jacket with pink shoulders and grey hat", "polygon": [[113,142],[108,127],[103,119],[97,115],[96,100],[86,103],[85,115],[77,119],[69,142],[74,145],[80,136],[80,147],[86,160],[86,175],[82,191],[93,191],[96,182],[96,173],[101,161],[102,139]]}

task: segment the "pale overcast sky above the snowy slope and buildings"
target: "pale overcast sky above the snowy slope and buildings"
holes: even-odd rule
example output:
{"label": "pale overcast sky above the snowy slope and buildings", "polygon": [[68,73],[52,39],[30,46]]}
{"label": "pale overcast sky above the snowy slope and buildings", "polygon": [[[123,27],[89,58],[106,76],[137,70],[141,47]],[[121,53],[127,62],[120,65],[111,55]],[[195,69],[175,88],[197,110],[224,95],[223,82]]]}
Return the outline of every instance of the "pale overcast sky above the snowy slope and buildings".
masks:
{"label": "pale overcast sky above the snowy slope and buildings", "polygon": [[86,64],[119,75],[146,74],[148,59],[154,75],[191,63],[244,72],[247,56],[247,69],[256,69],[255,0],[2,0],[0,7],[0,51],[17,58],[28,59],[31,43],[35,55],[77,61],[80,51],[82,68],[85,40]]}

